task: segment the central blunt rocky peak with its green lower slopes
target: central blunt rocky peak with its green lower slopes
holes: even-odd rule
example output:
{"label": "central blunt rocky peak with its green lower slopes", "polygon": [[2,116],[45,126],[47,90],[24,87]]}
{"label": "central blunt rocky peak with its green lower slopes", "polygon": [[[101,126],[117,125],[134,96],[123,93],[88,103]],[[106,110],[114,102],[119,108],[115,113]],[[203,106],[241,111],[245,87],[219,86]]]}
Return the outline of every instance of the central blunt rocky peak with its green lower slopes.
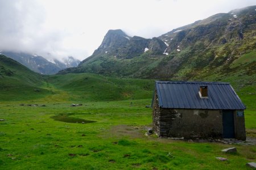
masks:
{"label": "central blunt rocky peak with its green lower slopes", "polygon": [[[121,29],[109,30],[92,56],[82,61],[78,67],[61,70],[59,73],[131,76],[141,68],[141,65],[146,66],[163,56],[166,49],[167,45],[157,37],[129,37]],[[142,57],[145,54],[150,57]],[[151,59],[152,57],[154,58]]]}

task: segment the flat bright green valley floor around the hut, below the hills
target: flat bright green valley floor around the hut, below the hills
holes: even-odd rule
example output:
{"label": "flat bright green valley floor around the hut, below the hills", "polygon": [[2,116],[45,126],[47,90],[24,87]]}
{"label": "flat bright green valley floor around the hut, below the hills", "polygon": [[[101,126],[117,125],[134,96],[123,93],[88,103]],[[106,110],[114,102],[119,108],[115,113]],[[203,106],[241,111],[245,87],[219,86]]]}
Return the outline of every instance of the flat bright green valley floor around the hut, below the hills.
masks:
{"label": "flat bright green valley floor around the hut, below the hills", "polygon": [[[249,169],[245,164],[256,162],[255,145],[145,135],[150,104],[151,99],[1,102],[0,169]],[[54,120],[58,115],[65,118]],[[247,137],[256,138],[255,111],[247,109],[245,116]],[[63,122],[72,117],[73,123]],[[237,147],[237,154],[221,152],[229,147]]]}

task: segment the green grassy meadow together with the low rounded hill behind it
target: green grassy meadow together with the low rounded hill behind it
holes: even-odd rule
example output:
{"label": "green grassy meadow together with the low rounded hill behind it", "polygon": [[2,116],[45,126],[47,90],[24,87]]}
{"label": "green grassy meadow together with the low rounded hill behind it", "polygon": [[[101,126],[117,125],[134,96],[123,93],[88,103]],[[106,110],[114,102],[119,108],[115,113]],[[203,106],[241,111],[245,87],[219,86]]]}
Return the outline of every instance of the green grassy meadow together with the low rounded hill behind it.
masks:
{"label": "green grassy meadow together with the low rounded hill behind it", "polygon": [[[245,164],[256,161],[255,145],[145,135],[152,123],[146,105],[151,104],[154,80],[94,74],[43,79],[40,86],[1,92],[0,118],[5,121],[0,122],[0,169],[250,169]],[[239,93],[247,105],[247,136],[255,137],[255,95],[247,93],[251,88]],[[69,122],[55,120],[58,116]],[[237,147],[238,153],[221,152],[228,147]]]}

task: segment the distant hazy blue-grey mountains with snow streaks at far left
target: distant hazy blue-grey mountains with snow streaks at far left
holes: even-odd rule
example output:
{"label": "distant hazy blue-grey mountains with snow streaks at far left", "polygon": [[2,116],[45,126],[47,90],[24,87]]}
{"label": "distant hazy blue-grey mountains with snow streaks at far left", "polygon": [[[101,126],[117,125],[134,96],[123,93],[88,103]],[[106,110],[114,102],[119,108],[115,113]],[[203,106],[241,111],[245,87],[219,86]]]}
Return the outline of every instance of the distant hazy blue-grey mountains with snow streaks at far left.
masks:
{"label": "distant hazy blue-grey mountains with snow streaks at far left", "polygon": [[76,67],[80,61],[73,57],[63,58],[63,61],[57,59],[51,59],[48,61],[46,58],[31,55],[27,53],[15,53],[15,52],[1,52],[1,54],[22,63],[22,65],[28,67],[32,71],[40,74],[55,74],[60,70],[68,67]]}

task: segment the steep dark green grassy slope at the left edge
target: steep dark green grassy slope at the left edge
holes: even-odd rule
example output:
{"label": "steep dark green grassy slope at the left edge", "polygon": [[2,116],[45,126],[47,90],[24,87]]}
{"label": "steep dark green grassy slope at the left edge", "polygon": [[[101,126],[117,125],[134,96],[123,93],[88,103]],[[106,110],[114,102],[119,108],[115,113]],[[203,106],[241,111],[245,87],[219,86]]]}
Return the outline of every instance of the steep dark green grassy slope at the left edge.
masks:
{"label": "steep dark green grassy slope at the left edge", "polygon": [[43,76],[27,67],[0,55],[0,100],[36,99],[48,94],[44,88]]}

